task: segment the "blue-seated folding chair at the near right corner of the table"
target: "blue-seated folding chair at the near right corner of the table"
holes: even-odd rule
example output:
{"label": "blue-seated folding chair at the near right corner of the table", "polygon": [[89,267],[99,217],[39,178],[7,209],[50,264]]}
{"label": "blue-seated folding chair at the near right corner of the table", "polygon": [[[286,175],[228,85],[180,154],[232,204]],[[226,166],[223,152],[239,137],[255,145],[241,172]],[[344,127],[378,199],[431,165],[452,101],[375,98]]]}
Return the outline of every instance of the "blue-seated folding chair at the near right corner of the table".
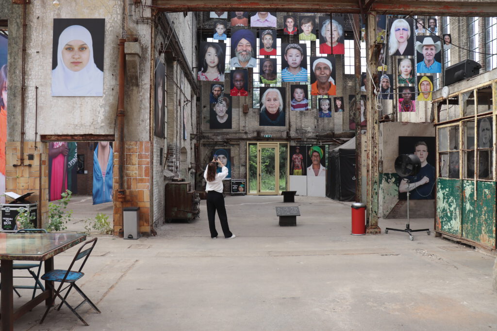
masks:
{"label": "blue-seated folding chair at the near right corner of the table", "polygon": [[[85,326],[88,326],[88,323],[86,323],[83,320],[83,318],[80,316],[80,314],[78,314],[78,312],[76,312],[76,309],[80,308],[80,306],[83,305],[83,303],[87,302],[91,306],[91,308],[93,308],[98,314],[100,314],[100,311],[98,310],[98,308],[96,308],[96,306],[93,304],[93,302],[91,302],[91,300],[88,299],[88,297],[83,293],[81,288],[79,288],[78,285],[76,285],[76,281],[84,276],[84,273],[81,272],[81,270],[83,269],[83,266],[86,263],[86,260],[88,260],[88,257],[90,256],[90,253],[93,250],[93,247],[95,247],[96,240],[97,240],[97,238],[95,237],[91,240],[86,241],[85,243],[83,243],[83,245],[81,245],[78,252],[76,252],[76,255],[73,259],[73,262],[71,262],[71,265],[69,266],[69,268],[67,270],[56,269],[56,270],[49,271],[49,272],[45,273],[43,276],[41,276],[41,279],[43,279],[45,281],[60,282],[61,284],[59,285],[59,288],[57,288],[57,289],[55,289],[55,286],[50,285],[50,287],[55,291],[55,293],[54,293],[54,296],[52,297],[52,304],[47,307],[47,310],[45,311],[45,314],[43,315],[43,318],[41,319],[40,324],[42,324],[43,321],[45,320],[45,317],[47,317],[48,311],[50,310],[51,306],[53,306],[55,304],[56,297],[59,297],[62,300],[62,302],[60,303],[57,310],[61,309],[63,303],[66,304],[66,306],[68,306],[69,309],[71,309],[71,311],[74,313],[74,315],[76,315],[80,319],[80,321],[83,322],[83,324]],[[89,244],[91,244],[91,246],[89,248],[86,248],[85,250],[83,250],[83,248]],[[76,261],[83,259],[83,258],[84,258],[83,263],[81,264],[78,271],[74,271],[73,266],[76,263]],[[68,283],[69,285],[62,288],[65,283]],[[47,284],[50,284],[50,283],[47,283]],[[78,306],[76,306],[76,308],[73,308],[66,301],[66,299],[69,295],[69,292],[71,292],[71,289],[73,287],[76,289],[76,291],[78,291],[78,293],[80,293],[80,295],[84,299]],[[67,292],[64,295],[64,297],[62,297],[61,293],[63,291],[65,291],[66,289],[67,289]]]}

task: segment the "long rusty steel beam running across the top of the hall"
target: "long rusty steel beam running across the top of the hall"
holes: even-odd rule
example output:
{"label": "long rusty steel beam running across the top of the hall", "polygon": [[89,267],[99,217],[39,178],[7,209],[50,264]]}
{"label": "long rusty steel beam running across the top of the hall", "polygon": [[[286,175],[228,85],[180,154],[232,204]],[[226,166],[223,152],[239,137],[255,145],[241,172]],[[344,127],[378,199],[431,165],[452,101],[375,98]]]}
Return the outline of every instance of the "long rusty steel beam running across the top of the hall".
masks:
{"label": "long rusty steel beam running across the top of the hall", "polygon": [[[367,1],[370,11],[379,14],[391,15],[443,15],[447,16],[496,16],[497,5],[495,0],[376,0]],[[298,2],[294,0],[153,0],[152,7],[158,11],[211,11],[221,9],[226,11],[291,11],[291,12],[324,12],[324,13],[361,13],[361,5],[357,0],[313,0]]]}

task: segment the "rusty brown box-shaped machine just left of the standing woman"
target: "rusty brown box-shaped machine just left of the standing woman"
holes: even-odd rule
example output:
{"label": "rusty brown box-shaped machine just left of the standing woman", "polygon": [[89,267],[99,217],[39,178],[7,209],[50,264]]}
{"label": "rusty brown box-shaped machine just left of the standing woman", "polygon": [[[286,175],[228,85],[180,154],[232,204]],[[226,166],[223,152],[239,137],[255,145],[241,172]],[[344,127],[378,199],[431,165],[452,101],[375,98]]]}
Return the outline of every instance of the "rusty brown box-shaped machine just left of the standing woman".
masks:
{"label": "rusty brown box-shaped machine just left of the standing woman", "polygon": [[166,184],[166,222],[191,220],[200,215],[200,198],[192,191],[190,182],[173,181]]}

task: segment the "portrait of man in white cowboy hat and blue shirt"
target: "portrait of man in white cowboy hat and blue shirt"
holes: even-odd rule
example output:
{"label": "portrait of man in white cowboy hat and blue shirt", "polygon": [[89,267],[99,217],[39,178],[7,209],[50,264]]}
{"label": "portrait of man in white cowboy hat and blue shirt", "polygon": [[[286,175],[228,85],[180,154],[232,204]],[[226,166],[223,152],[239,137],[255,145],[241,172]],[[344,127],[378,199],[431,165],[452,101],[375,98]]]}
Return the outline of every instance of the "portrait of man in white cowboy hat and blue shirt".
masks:
{"label": "portrait of man in white cowboy hat and blue shirt", "polygon": [[418,73],[442,72],[440,64],[440,38],[437,36],[416,36],[416,51]]}

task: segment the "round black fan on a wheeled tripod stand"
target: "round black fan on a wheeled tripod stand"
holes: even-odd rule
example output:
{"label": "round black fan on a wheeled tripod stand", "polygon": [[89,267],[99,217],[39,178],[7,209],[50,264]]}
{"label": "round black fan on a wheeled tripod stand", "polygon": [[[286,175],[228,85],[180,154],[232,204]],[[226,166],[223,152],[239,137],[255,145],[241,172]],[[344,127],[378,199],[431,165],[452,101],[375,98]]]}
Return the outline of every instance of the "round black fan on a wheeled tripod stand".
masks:
{"label": "round black fan on a wheeled tripod stand", "polygon": [[406,228],[404,230],[385,228],[385,233],[388,233],[388,230],[407,232],[409,234],[409,239],[411,239],[411,240],[414,240],[412,232],[426,231],[426,233],[429,235],[430,234],[429,229],[413,230],[413,229],[411,229],[410,224],[409,224],[409,196],[411,195],[410,185],[412,185],[410,177],[417,175],[417,173],[421,169],[421,160],[419,160],[419,157],[417,157],[414,154],[401,154],[401,155],[397,156],[397,158],[395,159],[394,167],[395,167],[395,172],[397,172],[397,175],[399,175],[404,181],[407,181],[407,185],[408,185],[408,189],[407,189],[407,224],[406,224]]}

